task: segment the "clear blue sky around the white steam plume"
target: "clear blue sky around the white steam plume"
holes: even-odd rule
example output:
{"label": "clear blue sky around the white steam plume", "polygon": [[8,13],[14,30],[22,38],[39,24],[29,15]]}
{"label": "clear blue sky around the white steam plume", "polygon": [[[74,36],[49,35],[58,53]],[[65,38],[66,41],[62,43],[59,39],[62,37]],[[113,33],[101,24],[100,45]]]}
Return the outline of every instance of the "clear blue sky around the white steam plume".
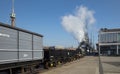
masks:
{"label": "clear blue sky around the white steam plume", "polygon": [[[0,22],[10,24],[11,1],[0,0]],[[120,0],[15,0],[16,26],[44,35],[45,46],[77,46],[61,18],[81,5],[95,12],[95,42],[100,28],[120,28]]]}

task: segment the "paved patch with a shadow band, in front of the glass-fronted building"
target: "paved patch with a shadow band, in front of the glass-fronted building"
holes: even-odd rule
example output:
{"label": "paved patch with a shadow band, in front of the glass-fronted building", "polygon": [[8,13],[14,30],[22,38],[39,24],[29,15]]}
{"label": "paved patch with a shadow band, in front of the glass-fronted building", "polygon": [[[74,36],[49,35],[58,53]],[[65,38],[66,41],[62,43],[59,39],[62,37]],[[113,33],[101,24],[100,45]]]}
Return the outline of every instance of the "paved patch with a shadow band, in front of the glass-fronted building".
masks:
{"label": "paved patch with a shadow band, in front of the glass-fronted building", "polygon": [[120,57],[101,56],[104,74],[120,74]]}

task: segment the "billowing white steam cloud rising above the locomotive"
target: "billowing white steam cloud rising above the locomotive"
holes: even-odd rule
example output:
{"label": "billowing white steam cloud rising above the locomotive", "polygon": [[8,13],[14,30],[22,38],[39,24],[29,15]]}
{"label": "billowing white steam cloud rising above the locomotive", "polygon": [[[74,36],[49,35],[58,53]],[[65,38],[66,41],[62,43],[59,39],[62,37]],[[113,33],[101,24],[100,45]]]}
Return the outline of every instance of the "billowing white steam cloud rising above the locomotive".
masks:
{"label": "billowing white steam cloud rising above the locomotive", "polygon": [[95,23],[93,14],[94,12],[92,10],[88,10],[85,6],[77,7],[74,14],[62,17],[62,26],[79,42],[81,42],[84,39],[85,32],[87,31],[86,26],[89,28]]}

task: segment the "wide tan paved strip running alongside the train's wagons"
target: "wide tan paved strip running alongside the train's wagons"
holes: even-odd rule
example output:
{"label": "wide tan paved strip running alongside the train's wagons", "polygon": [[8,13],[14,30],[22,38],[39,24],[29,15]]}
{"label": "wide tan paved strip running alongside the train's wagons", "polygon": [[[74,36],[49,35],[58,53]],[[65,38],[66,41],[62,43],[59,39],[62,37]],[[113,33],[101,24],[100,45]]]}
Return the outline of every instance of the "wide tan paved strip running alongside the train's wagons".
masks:
{"label": "wide tan paved strip running alongside the train's wagons", "polygon": [[98,57],[86,56],[40,74],[99,74]]}

